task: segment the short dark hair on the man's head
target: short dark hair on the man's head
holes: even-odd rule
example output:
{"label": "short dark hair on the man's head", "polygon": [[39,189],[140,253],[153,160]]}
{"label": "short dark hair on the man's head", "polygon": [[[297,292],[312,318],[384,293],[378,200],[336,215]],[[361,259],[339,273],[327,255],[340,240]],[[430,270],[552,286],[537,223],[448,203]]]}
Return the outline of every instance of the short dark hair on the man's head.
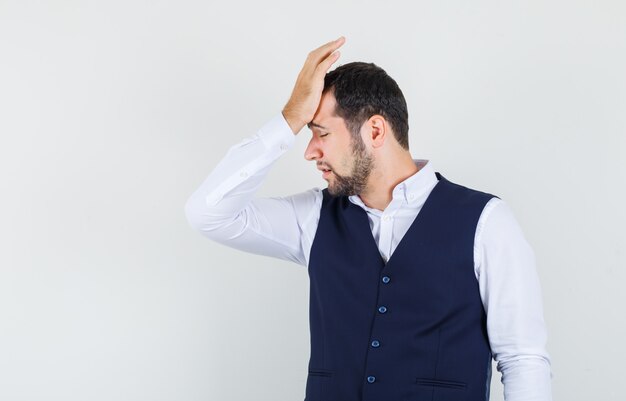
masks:
{"label": "short dark hair on the man's head", "polygon": [[396,140],[409,149],[409,113],[404,95],[385,70],[374,63],[344,64],[324,77],[324,92],[333,91],[335,113],[346,121],[350,132],[360,139],[363,123],[374,114],[391,125]]}

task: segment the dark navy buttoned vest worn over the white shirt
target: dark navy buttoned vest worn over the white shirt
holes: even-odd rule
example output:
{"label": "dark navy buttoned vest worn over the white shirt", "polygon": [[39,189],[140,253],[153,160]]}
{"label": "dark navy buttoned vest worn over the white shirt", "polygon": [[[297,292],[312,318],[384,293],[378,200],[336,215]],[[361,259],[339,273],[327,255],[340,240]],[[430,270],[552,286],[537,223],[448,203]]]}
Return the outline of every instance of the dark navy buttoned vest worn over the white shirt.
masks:
{"label": "dark navy buttoned vest worn over the white shirt", "polygon": [[306,401],[484,401],[491,350],[474,234],[494,195],[438,183],[387,264],[328,190],[311,248]]}

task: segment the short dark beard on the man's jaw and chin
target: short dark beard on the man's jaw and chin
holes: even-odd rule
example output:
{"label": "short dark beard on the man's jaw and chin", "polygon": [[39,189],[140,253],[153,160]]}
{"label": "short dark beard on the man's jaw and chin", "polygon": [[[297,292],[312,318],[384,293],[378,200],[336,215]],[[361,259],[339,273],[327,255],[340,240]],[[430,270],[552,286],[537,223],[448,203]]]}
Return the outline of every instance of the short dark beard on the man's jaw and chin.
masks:
{"label": "short dark beard on the man's jaw and chin", "polygon": [[328,193],[332,196],[358,195],[365,189],[367,178],[374,166],[374,158],[367,153],[365,143],[360,136],[352,140],[354,162],[350,175],[339,175],[333,169],[334,182],[328,185]]}

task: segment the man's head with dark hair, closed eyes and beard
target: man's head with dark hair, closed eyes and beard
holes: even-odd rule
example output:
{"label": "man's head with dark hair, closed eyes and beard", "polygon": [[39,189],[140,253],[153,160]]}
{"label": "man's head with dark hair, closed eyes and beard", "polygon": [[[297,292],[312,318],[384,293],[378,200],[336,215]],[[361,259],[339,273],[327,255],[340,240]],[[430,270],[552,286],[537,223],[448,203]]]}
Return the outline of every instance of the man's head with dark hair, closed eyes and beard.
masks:
{"label": "man's head with dark hair, closed eyes and beard", "polygon": [[409,148],[402,91],[373,63],[348,63],[326,74],[320,105],[308,127],[313,137],[305,158],[316,160],[320,170],[330,170],[324,178],[334,196],[365,189],[376,165],[373,149],[385,141]]}

